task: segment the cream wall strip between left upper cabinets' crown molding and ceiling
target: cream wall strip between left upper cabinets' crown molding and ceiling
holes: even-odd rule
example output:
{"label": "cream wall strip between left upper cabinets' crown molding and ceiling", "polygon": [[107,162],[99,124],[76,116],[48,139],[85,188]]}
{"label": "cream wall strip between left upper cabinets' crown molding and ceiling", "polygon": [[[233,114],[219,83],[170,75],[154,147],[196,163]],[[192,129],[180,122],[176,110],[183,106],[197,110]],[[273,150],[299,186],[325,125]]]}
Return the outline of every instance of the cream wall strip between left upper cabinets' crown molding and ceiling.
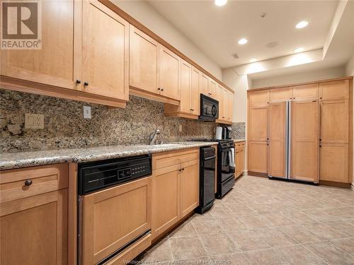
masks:
{"label": "cream wall strip between left upper cabinets' crown molding and ceiling", "polygon": [[215,77],[222,79],[222,69],[188,40],[175,26],[161,16],[147,1],[113,0],[113,3],[169,42]]}

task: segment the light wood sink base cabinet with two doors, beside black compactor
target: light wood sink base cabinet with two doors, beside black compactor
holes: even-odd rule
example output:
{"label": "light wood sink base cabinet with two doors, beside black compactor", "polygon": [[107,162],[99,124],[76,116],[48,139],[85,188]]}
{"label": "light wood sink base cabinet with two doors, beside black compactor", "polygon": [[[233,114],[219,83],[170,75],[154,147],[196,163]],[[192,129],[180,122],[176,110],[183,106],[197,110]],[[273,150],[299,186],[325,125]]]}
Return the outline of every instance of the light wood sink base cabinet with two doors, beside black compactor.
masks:
{"label": "light wood sink base cabinet with two doors, beside black compactor", "polygon": [[199,205],[199,149],[152,157],[152,239]]}

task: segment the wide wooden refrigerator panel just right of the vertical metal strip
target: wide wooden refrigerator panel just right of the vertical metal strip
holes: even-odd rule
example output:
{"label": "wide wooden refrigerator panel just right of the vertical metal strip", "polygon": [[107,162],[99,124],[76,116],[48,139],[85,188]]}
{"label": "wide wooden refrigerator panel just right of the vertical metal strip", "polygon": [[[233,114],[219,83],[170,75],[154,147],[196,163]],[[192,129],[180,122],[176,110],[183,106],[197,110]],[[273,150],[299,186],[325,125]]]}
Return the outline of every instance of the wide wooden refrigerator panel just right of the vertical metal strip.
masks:
{"label": "wide wooden refrigerator panel just right of the vertical metal strip", "polygon": [[319,179],[319,102],[293,101],[291,104],[290,178],[309,182]]}

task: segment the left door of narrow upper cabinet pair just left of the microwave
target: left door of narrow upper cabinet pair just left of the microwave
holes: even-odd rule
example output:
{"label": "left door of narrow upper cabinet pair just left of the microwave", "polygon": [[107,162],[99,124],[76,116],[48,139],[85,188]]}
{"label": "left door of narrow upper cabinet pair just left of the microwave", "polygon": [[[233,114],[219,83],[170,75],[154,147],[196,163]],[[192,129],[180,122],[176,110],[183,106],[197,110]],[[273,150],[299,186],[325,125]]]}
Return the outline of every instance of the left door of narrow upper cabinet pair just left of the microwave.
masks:
{"label": "left door of narrow upper cabinet pair just left of the microwave", "polygon": [[192,107],[190,107],[191,103],[191,75],[192,75],[192,66],[188,64],[186,61],[181,61],[181,102],[180,102],[180,110],[181,112],[190,113],[192,111]]}

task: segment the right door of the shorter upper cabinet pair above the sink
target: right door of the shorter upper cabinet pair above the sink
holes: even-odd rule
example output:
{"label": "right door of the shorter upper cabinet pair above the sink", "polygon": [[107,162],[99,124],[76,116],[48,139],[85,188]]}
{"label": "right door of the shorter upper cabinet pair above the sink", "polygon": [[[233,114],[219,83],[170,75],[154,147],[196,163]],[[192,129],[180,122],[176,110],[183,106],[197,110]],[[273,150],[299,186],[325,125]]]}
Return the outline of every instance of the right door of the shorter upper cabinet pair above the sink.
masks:
{"label": "right door of the shorter upper cabinet pair above the sink", "polygon": [[159,88],[161,88],[161,95],[174,100],[180,99],[179,63],[180,58],[176,54],[164,46],[160,46]]}

